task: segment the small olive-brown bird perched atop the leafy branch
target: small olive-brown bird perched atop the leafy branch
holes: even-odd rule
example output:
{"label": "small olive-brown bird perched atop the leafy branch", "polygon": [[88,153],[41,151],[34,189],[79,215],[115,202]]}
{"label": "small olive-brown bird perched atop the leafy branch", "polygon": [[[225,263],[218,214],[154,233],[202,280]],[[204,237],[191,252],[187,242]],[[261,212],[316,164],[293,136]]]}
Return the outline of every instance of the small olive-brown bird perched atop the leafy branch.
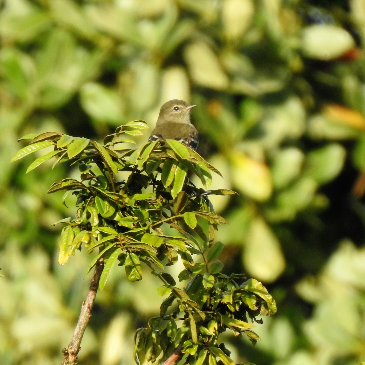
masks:
{"label": "small olive-brown bird perched atop the leafy branch", "polygon": [[190,110],[196,105],[189,105],[184,100],[173,99],[162,105],[156,122],[156,127],[151,132],[149,141],[165,141],[175,139],[191,149],[198,147],[198,132],[190,122]]}

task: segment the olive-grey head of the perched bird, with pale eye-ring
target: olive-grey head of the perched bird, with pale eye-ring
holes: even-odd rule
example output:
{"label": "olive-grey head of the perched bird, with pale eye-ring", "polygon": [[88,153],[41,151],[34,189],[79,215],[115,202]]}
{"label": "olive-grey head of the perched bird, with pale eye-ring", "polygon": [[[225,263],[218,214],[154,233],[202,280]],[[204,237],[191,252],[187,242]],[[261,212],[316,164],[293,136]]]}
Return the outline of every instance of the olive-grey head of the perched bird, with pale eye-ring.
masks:
{"label": "olive-grey head of the perched bird, with pale eye-ring", "polygon": [[173,99],[162,105],[157,124],[190,123],[190,110],[196,105],[189,105],[184,100]]}

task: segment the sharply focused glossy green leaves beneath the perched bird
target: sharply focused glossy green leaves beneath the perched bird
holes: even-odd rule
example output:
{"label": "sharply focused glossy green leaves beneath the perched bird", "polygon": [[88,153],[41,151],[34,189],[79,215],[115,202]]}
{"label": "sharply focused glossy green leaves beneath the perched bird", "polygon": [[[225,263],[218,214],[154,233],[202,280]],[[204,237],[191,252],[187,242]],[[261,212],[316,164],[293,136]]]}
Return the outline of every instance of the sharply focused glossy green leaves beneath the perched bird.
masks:
{"label": "sharply focused glossy green leaves beneath the perched bird", "polygon": [[[53,183],[48,191],[72,192],[78,207],[74,218],[61,220],[67,225],[59,242],[60,265],[66,264],[76,250],[84,248],[93,253],[98,249],[88,271],[97,261],[105,262],[101,290],[117,262],[124,266],[130,281],[142,280],[143,262],[161,279],[163,285],[158,292],[170,293],[161,304],[160,317],[149,321],[147,333],[144,328],[137,331],[138,364],[154,364],[177,347],[189,355],[186,364],[203,364],[207,355],[209,364],[216,359],[234,364],[230,351],[218,343],[218,334],[229,328],[235,336],[246,334],[256,343],[260,338],[247,320],[261,323],[258,315],[276,313],[275,301],[260,282],[243,281],[244,275],[220,273],[223,264],[217,258],[223,244],[213,242],[218,224],[228,222],[214,213],[208,196],[235,192],[197,189],[187,177],[189,172],[195,173],[205,188],[212,180],[210,170],[219,172],[178,141],[168,139],[168,146],[155,141],[140,149],[126,148],[126,143],[132,142],[129,136],[141,134],[146,127],[142,120],[126,123],[105,137],[105,145],[57,132],[26,135],[21,140],[31,142],[12,161],[53,147],[32,162],[27,172],[53,157],[57,158],[53,166],[66,161],[79,165],[81,181],[65,178]],[[127,176],[118,181],[116,176],[123,172]],[[175,234],[165,234],[164,227],[173,228]],[[192,255],[203,262],[195,262]],[[175,279],[164,270],[165,265],[176,264],[178,257],[185,267],[178,277],[188,280],[186,289],[176,287]]]}

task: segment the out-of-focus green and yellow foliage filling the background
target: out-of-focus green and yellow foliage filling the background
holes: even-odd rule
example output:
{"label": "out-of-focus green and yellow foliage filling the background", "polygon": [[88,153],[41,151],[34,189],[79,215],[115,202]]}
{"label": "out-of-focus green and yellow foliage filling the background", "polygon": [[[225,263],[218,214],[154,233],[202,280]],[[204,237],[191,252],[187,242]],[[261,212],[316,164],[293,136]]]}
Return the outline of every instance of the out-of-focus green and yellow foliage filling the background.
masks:
{"label": "out-of-focus green and yellow foliage filling the background", "polygon": [[[58,266],[74,214],[50,184],[77,176],[34,157],[9,164],[21,135],[100,139],[154,126],[166,100],[196,104],[199,152],[224,176],[213,201],[227,273],[277,301],[255,347],[222,337],[235,362],[365,361],[365,1],[0,1],[0,362],[59,364],[88,287],[87,257]],[[139,137],[143,143],[147,136]],[[178,268],[176,270],[178,272]],[[114,270],[80,364],[132,364],[132,337],[158,313],[155,277]]]}

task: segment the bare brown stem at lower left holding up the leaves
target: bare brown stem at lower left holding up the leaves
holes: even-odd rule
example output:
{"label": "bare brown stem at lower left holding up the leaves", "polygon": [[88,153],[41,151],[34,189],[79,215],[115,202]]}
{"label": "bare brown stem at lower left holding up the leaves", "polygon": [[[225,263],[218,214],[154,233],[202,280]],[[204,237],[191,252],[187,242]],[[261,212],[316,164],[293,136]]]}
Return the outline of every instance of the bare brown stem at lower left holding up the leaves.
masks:
{"label": "bare brown stem at lower left holding up the leaves", "polygon": [[65,356],[65,360],[62,362],[62,365],[77,364],[77,355],[81,350],[80,343],[89,319],[91,318],[91,310],[94,304],[97,288],[99,287],[99,280],[101,273],[103,272],[103,268],[104,260],[101,259],[96,263],[95,271],[90,281],[89,291],[86,295],[85,300],[82,302],[80,316],[78,317],[78,321],[71,342],[69,343],[67,349],[64,348],[62,350]]}

